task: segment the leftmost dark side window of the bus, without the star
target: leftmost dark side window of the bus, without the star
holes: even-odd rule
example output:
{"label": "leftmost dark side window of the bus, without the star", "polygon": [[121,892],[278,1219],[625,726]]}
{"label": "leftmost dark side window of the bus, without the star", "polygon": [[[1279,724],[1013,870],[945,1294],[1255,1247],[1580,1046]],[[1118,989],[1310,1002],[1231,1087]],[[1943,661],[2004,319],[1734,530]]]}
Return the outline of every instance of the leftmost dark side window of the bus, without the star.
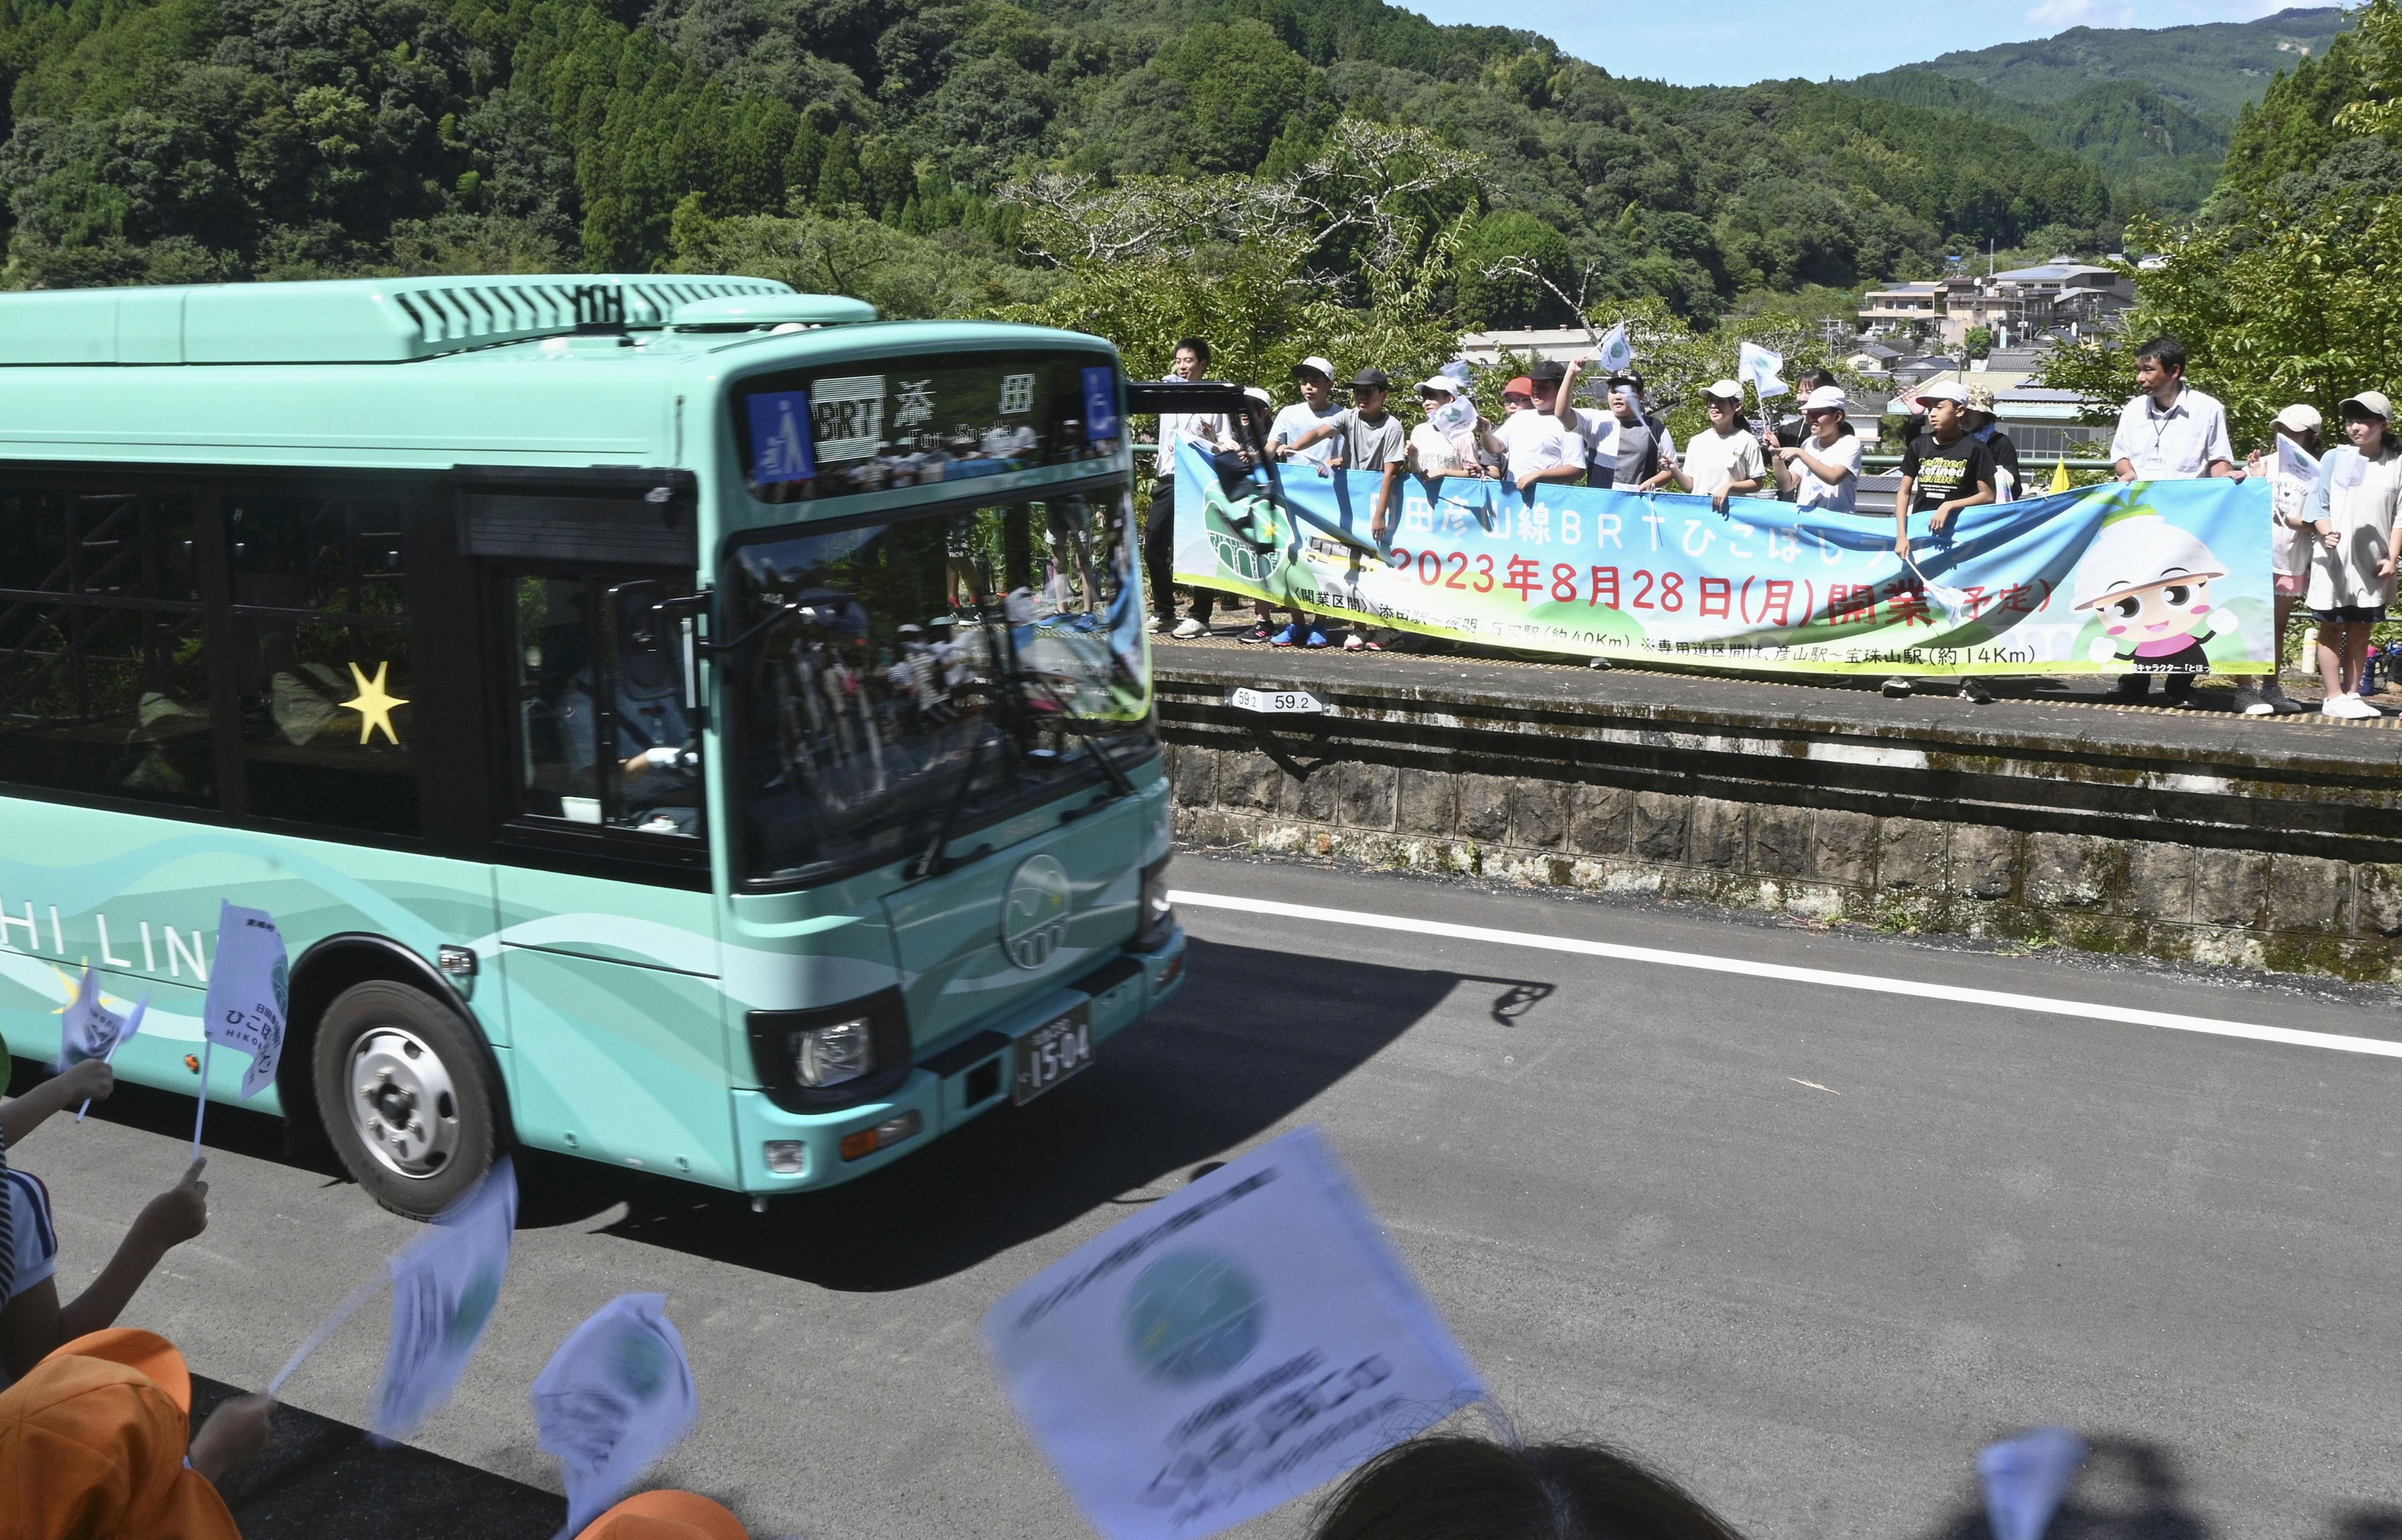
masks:
{"label": "leftmost dark side window of the bus, without the star", "polygon": [[0,781],[216,802],[180,493],[0,490]]}

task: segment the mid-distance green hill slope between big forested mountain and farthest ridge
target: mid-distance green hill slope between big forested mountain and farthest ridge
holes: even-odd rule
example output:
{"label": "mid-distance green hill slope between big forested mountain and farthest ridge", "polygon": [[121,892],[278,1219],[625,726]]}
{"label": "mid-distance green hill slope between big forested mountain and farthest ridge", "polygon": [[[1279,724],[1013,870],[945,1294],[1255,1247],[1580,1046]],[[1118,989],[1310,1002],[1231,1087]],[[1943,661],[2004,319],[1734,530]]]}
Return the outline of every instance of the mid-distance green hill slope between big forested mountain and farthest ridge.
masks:
{"label": "mid-distance green hill slope between big forested mountain and farthest ridge", "polygon": [[2018,130],[2090,163],[2121,199],[2162,214],[2191,214],[2210,197],[2234,127],[2227,118],[2193,113],[2133,79],[2099,82],[2073,96],[2034,103],[1910,65],[1847,79],[1842,89]]}

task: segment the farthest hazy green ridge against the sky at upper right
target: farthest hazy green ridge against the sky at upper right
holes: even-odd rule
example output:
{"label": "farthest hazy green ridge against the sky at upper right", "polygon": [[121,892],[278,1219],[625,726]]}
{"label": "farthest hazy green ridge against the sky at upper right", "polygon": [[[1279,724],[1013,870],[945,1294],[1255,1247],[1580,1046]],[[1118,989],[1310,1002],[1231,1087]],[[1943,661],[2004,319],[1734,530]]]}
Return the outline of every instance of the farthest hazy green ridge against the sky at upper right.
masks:
{"label": "farthest hazy green ridge against the sky at upper right", "polygon": [[[2104,82],[2152,86],[2188,113],[2234,115],[2279,70],[2318,58],[2344,31],[2340,7],[2282,10],[2258,22],[2200,26],[2071,26],[2034,43],[2001,43],[1931,58],[1919,70],[1965,79],[2010,101],[2063,101]],[[2308,53],[2304,53],[2308,50]]]}

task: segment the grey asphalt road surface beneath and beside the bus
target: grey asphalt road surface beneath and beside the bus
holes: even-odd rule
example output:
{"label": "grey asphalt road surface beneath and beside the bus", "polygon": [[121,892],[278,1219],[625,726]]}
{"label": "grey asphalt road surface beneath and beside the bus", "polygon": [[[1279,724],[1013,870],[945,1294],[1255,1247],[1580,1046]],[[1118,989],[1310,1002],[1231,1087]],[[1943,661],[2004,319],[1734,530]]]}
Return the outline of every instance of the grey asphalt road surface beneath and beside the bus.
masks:
{"label": "grey asphalt road surface beneath and beside the bus", "polygon": [[[2402,1038],[2383,992],[1295,865],[1187,858],[1175,882]],[[240,1487],[245,1530],[423,1535],[413,1514],[440,1511],[447,1540],[545,1535],[557,1506],[528,1487],[557,1482],[526,1386],[586,1312],[665,1290],[704,1415],[658,1480],[759,1535],[1086,1533],[992,1384],[982,1312],[1194,1168],[1319,1122],[1525,1437],[1624,1444],[1751,1535],[1982,1535],[1972,1456],[2030,1422],[2097,1446],[2059,1540],[2402,1535],[2402,1060],[1292,915],[1184,920],[1172,1009],[1042,1103],[853,1187],[754,1216],[526,1163],[509,1288],[428,1454],[341,1427],[382,1353],[370,1309],[288,1386],[315,1417]],[[175,1175],[187,1127],[187,1103],[130,1091],[14,1151],[58,1199],[62,1285]],[[413,1228],[283,1160],[267,1120],[211,1110],[209,1144],[211,1228],[132,1319],[255,1386]],[[1242,1535],[1302,1528],[1287,1511]]]}

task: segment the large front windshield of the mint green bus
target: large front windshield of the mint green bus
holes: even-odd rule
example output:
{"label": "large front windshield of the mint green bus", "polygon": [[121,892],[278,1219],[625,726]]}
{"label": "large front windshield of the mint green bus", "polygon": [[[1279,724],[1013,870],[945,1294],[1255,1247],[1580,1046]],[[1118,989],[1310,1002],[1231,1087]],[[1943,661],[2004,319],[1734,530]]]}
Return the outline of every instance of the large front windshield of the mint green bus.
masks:
{"label": "large front windshield of the mint green bus", "polygon": [[783,529],[735,553],[749,882],[817,882],[1155,750],[1124,490]]}

